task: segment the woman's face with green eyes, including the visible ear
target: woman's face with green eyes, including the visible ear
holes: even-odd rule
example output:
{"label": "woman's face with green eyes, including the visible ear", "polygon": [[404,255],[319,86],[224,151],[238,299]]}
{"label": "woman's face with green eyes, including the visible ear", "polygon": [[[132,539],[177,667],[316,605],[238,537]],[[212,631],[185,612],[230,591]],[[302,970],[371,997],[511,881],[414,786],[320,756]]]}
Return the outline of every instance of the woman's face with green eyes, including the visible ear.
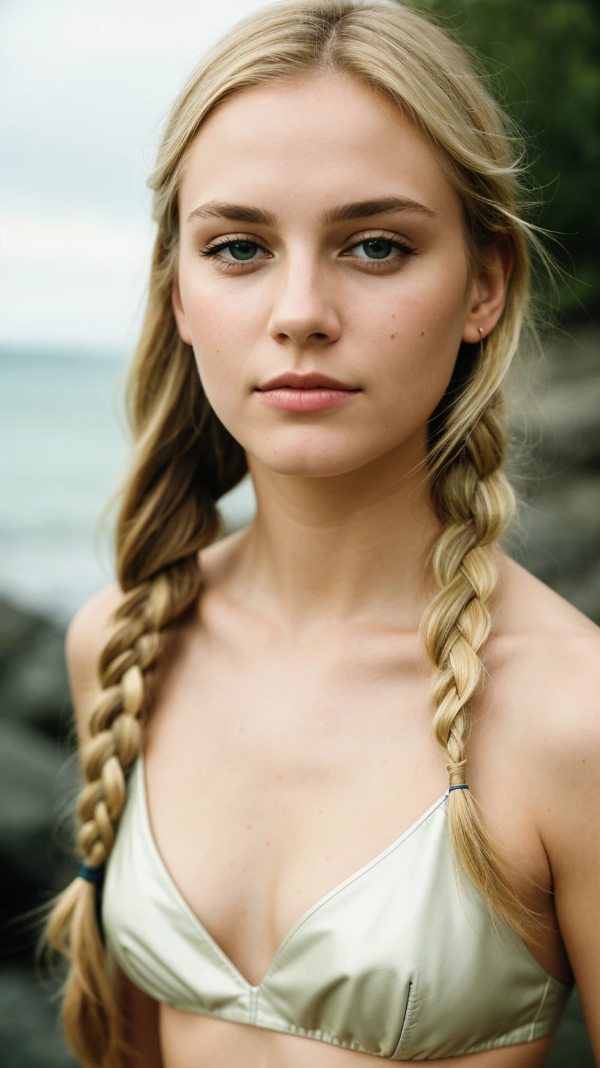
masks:
{"label": "woman's face with green eyes, including the visible ear", "polygon": [[459,197],[395,106],[333,75],[239,93],[189,148],[179,218],[179,333],[253,474],[425,456],[509,266],[472,277]]}

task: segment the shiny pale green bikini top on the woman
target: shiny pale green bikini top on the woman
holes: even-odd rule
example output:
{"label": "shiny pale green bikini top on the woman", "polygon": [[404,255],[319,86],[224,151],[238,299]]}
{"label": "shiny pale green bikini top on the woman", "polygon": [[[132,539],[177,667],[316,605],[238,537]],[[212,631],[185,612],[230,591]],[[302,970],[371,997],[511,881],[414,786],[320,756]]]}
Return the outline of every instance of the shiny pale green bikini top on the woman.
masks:
{"label": "shiny pale green bikini top on the woman", "polygon": [[107,945],[158,1002],[391,1061],[428,1061],[552,1034],[571,987],[460,893],[448,791],[298,920],[251,986],[191,911],[151,829],[142,757],[107,864]]}

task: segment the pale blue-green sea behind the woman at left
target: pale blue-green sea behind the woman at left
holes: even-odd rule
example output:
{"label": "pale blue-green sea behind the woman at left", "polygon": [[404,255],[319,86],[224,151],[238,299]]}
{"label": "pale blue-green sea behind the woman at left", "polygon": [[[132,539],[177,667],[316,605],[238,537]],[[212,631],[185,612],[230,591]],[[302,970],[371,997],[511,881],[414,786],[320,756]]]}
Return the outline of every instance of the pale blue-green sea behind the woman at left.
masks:
{"label": "pale blue-green sea behind the woman at left", "polygon": [[[0,595],[64,623],[114,581],[100,513],[128,455],[125,364],[106,356],[0,351]],[[247,478],[220,502],[252,517]]]}

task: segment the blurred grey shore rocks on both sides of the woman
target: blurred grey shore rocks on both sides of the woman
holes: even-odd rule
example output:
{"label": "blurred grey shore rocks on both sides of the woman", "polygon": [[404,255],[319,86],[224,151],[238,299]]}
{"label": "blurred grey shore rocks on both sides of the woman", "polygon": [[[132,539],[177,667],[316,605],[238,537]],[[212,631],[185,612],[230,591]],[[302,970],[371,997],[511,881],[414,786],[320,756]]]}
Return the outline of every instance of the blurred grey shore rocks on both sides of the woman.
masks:
{"label": "blurred grey shore rocks on both sides of the woman", "polygon": [[[506,548],[600,624],[600,330],[556,340],[547,363],[521,368],[511,391],[511,471],[522,504]],[[78,772],[63,648],[60,627],[0,600],[3,1068],[75,1065],[50,1000],[57,979],[34,963],[40,910],[76,866]],[[594,1066],[577,992],[548,1064]]]}

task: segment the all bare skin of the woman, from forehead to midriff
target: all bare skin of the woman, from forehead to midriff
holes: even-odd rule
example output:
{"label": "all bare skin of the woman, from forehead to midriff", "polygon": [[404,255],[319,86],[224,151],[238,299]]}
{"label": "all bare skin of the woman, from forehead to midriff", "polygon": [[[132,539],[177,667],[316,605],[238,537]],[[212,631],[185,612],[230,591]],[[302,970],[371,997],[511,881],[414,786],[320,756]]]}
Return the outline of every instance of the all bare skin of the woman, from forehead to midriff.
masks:
{"label": "all bare skin of the woman, from forehead to midriff", "polygon": [[[438,530],[419,465],[460,342],[502,313],[510,253],[496,246],[470,272],[433,148],[333,75],[221,105],[190,147],[179,213],[178,329],[247,450],[258,507],[202,553],[198,612],[176,628],[149,717],[146,789],[174,881],[258,984],[298,917],[447,786],[417,645]],[[600,632],[494,551],[468,779],[547,924],[530,948],[564,981],[572,968],[600,1056]],[[92,669],[77,631],[117,599],[105,591],[73,630],[78,705]],[[148,1068],[374,1064],[157,1006],[124,977],[123,998]],[[452,1065],[539,1068],[551,1045]]]}

